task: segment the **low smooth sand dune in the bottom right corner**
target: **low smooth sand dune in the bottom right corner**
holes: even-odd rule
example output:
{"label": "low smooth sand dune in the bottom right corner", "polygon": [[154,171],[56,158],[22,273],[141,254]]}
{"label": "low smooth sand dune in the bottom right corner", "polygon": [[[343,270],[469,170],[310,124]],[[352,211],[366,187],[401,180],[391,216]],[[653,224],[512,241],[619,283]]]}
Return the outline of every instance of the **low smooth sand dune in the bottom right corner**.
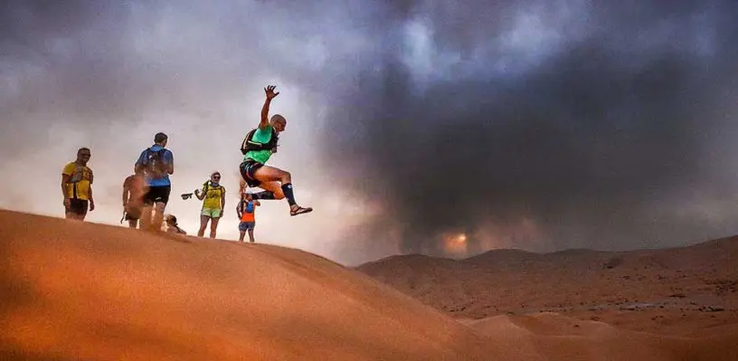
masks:
{"label": "low smooth sand dune in the bottom right corner", "polygon": [[548,312],[464,323],[499,341],[523,341],[549,360],[738,360],[736,328],[707,337],[662,336]]}

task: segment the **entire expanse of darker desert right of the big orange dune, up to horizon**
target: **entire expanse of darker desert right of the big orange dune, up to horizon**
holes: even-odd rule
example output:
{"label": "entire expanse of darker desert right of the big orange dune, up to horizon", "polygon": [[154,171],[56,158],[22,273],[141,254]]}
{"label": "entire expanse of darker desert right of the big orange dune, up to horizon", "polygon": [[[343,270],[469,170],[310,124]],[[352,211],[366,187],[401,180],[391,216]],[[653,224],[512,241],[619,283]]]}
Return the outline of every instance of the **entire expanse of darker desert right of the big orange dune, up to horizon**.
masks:
{"label": "entire expanse of darker desert right of the big orange dune, up to horizon", "polygon": [[552,359],[738,360],[735,260],[738,237],[634,252],[393,256],[356,269]]}

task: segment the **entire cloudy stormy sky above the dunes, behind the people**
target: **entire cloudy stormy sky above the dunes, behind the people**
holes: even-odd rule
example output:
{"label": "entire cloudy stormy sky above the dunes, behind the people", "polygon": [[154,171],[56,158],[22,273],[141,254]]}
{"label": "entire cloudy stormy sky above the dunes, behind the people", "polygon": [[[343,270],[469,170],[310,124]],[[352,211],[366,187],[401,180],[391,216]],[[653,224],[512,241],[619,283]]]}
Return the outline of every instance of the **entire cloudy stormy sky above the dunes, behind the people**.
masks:
{"label": "entire cloudy stormy sky above the dunes, behind the people", "polygon": [[0,207],[63,216],[61,167],[86,146],[88,220],[120,225],[123,179],[164,131],[167,212],[196,233],[200,204],[176,195],[213,170],[237,189],[275,84],[289,123],[270,162],[316,211],[265,203],[262,242],[352,264],[738,233],[733,1],[1,6]]}

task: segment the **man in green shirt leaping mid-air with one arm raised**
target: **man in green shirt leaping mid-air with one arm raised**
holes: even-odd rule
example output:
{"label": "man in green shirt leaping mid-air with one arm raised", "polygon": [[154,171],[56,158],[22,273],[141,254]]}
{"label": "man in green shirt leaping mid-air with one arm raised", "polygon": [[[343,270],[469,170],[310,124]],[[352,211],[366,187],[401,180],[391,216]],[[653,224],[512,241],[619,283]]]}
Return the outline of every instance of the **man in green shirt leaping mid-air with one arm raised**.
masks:
{"label": "man in green shirt leaping mid-air with one arm raised", "polygon": [[253,195],[254,199],[282,199],[287,198],[289,214],[307,214],[313,211],[311,207],[301,207],[295,201],[292,185],[292,176],[288,171],[274,166],[266,166],[270,157],[277,153],[279,133],[287,128],[287,119],[275,114],[269,119],[271,100],[279,95],[274,92],[273,85],[264,89],[266,100],[261,108],[261,120],[258,128],[252,129],[241,142],[243,162],[239,169],[241,177],[247,185],[264,189]]}

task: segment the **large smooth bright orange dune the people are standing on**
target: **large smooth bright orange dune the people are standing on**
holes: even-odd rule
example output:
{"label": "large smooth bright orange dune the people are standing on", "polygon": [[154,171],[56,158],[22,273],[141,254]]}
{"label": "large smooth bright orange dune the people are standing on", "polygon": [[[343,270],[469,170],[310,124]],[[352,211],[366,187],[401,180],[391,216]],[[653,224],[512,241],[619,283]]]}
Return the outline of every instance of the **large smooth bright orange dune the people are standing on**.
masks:
{"label": "large smooth bright orange dune the people are standing on", "polygon": [[339,264],[0,212],[0,359],[543,360]]}

